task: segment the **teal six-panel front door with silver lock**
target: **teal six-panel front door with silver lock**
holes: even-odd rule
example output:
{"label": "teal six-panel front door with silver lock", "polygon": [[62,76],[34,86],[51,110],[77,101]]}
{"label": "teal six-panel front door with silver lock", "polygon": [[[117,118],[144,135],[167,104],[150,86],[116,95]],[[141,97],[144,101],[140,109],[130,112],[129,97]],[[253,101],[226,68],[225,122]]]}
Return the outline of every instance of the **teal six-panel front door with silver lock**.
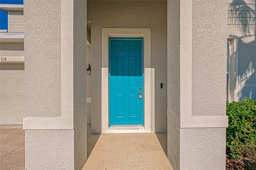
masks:
{"label": "teal six-panel front door with silver lock", "polygon": [[143,80],[143,38],[109,38],[109,126],[143,126]]}

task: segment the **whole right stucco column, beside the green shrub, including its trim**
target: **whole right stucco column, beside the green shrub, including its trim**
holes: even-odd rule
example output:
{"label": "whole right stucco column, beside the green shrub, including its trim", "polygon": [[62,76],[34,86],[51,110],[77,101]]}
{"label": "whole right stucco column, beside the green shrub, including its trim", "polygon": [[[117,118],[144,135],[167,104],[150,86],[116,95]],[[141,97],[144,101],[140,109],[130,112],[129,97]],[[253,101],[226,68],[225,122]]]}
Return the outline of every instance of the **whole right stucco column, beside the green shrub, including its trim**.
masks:
{"label": "whole right stucco column, beside the green shrub, including its trim", "polygon": [[168,0],[168,159],[175,170],[224,170],[225,0]]}

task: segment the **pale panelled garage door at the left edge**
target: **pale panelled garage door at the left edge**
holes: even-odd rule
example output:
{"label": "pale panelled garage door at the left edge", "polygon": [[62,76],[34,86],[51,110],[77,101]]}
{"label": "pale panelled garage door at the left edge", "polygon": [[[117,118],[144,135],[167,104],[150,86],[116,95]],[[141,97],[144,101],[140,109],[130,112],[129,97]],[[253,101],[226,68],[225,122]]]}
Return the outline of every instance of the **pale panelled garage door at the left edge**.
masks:
{"label": "pale panelled garage door at the left edge", "polygon": [[22,125],[25,117],[24,64],[0,65],[0,124]]}

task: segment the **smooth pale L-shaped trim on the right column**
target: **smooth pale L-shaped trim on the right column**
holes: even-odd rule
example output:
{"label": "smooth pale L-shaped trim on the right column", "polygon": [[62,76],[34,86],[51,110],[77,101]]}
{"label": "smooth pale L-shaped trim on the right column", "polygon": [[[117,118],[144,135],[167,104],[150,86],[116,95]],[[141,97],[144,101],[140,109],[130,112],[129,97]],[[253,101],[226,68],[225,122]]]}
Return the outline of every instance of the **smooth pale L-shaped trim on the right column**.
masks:
{"label": "smooth pale L-shaped trim on the right column", "polygon": [[228,116],[192,115],[192,0],[180,1],[180,128],[228,127]]}

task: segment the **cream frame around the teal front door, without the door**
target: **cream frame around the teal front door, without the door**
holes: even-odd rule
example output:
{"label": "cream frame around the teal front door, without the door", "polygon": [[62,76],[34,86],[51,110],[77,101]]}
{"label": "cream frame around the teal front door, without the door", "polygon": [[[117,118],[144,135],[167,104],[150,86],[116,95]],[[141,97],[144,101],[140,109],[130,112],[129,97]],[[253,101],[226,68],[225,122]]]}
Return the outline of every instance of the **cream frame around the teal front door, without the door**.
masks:
{"label": "cream frame around the teal front door, without the door", "polygon": [[[109,37],[143,37],[144,126],[109,127]],[[102,133],[154,133],[154,68],[151,68],[150,28],[102,28],[101,125]]]}

